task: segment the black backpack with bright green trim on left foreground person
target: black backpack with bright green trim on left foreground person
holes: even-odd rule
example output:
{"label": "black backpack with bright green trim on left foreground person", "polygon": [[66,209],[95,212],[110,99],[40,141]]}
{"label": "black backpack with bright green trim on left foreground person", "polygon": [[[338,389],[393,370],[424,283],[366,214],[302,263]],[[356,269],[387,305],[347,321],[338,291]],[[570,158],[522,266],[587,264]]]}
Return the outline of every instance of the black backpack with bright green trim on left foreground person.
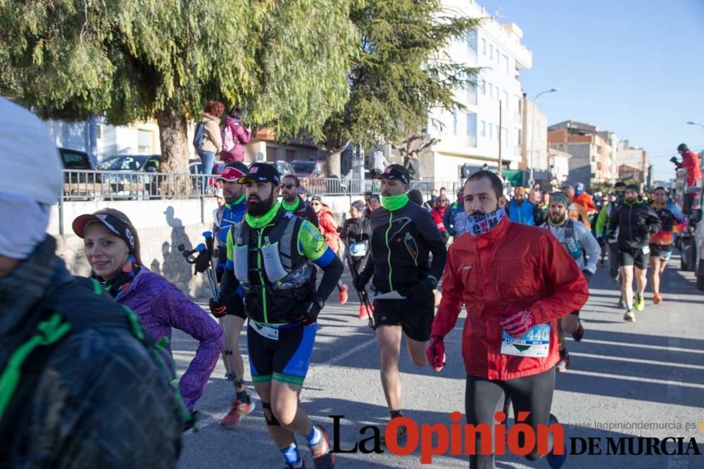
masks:
{"label": "black backpack with bright green trim on left foreground person", "polygon": [[[76,277],[58,285],[32,308],[36,312],[13,331],[11,340],[5,340],[1,345],[9,352],[8,359],[0,363],[0,441],[4,444],[14,441],[15,444],[9,451],[3,451],[0,465],[4,458],[21,454],[21,438],[13,438],[13,435],[25,433],[29,423],[23,418],[27,415],[25,409],[32,402],[31,396],[46,363],[56,346],[70,335],[101,326],[129,330],[169,374],[162,357],[168,339],[153,340],[144,332],[130,308],[117,303],[106,304],[105,295],[102,285],[89,278]],[[90,314],[77,311],[90,311]],[[182,418],[191,420],[177,385],[172,385],[182,409]]]}

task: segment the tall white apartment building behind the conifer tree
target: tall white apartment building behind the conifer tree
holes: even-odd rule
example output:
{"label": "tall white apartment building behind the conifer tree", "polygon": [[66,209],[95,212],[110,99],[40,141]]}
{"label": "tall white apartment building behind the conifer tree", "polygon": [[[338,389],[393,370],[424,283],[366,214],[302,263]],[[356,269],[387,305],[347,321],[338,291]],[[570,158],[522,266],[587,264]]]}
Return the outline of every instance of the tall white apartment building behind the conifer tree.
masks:
{"label": "tall white apartment building behind the conifer tree", "polygon": [[523,138],[519,74],[532,66],[532,53],[521,44],[523,32],[514,23],[502,25],[490,18],[475,0],[444,0],[443,5],[448,13],[486,18],[477,30],[447,49],[452,60],[484,70],[476,86],[467,82],[456,92],[456,100],[466,109],[429,115],[429,137],[439,143],[425,153],[421,173],[443,181],[456,179],[465,163],[477,169],[484,164],[497,167],[500,140],[504,167],[519,169]]}

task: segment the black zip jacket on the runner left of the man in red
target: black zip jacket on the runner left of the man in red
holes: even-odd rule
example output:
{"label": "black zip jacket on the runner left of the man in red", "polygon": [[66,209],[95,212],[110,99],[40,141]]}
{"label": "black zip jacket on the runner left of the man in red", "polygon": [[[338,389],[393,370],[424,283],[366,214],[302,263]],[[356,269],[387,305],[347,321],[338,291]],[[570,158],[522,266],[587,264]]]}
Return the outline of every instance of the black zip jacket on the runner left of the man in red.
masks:
{"label": "black zip jacket on the runner left of the man in red", "polygon": [[394,212],[384,208],[372,212],[371,249],[371,262],[360,277],[368,281],[373,272],[374,288],[380,293],[396,290],[408,295],[429,275],[439,281],[445,269],[444,238],[430,212],[410,201]]}

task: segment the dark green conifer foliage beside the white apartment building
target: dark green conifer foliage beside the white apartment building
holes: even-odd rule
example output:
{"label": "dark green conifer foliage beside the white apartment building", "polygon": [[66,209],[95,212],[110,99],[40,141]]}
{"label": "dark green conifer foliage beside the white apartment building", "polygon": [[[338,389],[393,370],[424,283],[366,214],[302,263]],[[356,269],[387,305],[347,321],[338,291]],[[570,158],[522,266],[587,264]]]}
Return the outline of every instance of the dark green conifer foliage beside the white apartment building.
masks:
{"label": "dark green conifer foliage beside the white apartment building", "polygon": [[438,0],[367,0],[351,12],[361,34],[352,58],[350,101],[325,124],[329,151],[348,141],[402,141],[427,126],[433,108],[461,107],[455,91],[478,69],[446,53],[480,20],[457,18]]}

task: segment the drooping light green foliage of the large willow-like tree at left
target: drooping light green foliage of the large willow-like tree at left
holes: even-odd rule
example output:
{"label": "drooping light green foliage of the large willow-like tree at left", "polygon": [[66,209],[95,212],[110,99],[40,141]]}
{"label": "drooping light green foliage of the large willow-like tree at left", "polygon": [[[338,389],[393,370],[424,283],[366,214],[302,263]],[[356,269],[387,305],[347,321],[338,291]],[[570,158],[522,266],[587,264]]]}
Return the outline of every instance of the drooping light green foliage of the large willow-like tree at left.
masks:
{"label": "drooping light green foliage of the large willow-like tree at left", "polygon": [[[180,135],[208,99],[279,134],[321,136],[348,98],[348,0],[0,0],[0,93],[43,117],[160,115]],[[167,129],[161,129],[162,133]],[[183,135],[181,135],[183,134]],[[178,140],[178,139],[176,139]],[[164,139],[163,146],[174,139]],[[170,155],[171,148],[163,148]]]}

